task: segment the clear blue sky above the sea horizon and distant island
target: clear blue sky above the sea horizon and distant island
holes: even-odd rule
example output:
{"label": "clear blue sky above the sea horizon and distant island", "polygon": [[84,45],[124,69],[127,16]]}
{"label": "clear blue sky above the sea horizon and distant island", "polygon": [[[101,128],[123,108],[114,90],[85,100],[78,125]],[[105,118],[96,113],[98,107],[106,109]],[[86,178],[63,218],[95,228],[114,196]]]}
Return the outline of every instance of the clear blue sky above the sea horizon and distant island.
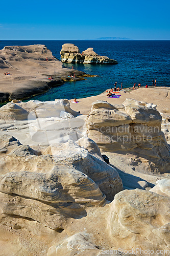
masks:
{"label": "clear blue sky above the sea horizon and distant island", "polygon": [[169,9],[168,0],[9,0],[1,10],[0,40],[170,40]]}

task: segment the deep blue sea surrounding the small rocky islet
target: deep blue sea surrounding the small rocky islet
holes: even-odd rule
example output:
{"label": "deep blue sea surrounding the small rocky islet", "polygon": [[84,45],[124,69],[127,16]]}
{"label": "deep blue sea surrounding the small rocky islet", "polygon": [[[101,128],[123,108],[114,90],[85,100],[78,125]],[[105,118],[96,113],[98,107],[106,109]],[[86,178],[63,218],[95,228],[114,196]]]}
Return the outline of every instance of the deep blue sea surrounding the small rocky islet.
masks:
{"label": "deep blue sea surrounding the small rocky islet", "polygon": [[[56,98],[84,98],[98,95],[114,83],[123,82],[123,87],[132,87],[134,82],[141,86],[151,86],[157,80],[157,86],[170,87],[170,40],[3,40],[0,49],[13,45],[46,45],[58,59],[63,44],[71,43],[79,47],[80,52],[92,47],[103,56],[116,59],[117,65],[74,64],[74,68],[87,74],[98,75],[87,80],[66,82],[43,95],[32,97],[38,100]],[[72,64],[63,63],[67,68]]]}

